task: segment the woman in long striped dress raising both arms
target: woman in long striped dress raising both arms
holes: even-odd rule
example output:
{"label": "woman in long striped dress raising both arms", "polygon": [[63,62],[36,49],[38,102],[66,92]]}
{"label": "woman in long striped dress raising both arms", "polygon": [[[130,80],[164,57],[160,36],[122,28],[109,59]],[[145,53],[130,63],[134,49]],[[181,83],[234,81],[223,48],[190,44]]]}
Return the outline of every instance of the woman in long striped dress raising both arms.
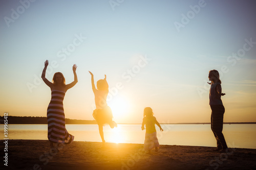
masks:
{"label": "woman in long striped dress raising both arms", "polygon": [[[51,83],[46,79],[46,69],[48,60],[45,62],[45,68],[42,70],[42,80],[51,88],[52,98],[47,108],[47,121],[48,121],[48,139],[50,147],[58,150],[59,143],[69,144],[74,140],[74,136],[68,133],[65,127],[65,114],[63,109],[63,99],[68,89],[77,83],[76,68],[73,65],[74,81],[70,84],[65,84],[65,78],[61,72],[55,72]],[[55,146],[54,146],[55,145]]]}

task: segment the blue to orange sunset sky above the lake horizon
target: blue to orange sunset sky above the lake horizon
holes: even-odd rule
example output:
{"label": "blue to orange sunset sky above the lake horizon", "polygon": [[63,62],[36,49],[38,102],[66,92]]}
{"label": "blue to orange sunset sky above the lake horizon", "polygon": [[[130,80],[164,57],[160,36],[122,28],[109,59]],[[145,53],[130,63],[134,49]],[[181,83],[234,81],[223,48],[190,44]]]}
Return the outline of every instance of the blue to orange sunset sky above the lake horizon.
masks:
{"label": "blue to orange sunset sky above the lake horizon", "polygon": [[117,123],[210,122],[208,72],[220,72],[224,122],[256,122],[256,3],[0,1],[0,115],[46,116],[46,78],[62,72],[66,118],[92,120],[91,86],[106,75]]}

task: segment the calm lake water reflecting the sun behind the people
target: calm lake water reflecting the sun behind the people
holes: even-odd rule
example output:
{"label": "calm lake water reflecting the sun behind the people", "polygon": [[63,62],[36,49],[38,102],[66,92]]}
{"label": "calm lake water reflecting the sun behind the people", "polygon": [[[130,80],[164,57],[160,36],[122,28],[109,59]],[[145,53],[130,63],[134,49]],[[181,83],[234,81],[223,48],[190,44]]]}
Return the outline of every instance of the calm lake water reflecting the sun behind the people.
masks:
{"label": "calm lake water reflecting the sun behind the people", "polygon": [[[160,144],[194,145],[216,147],[214,134],[210,125],[161,125],[163,132],[157,129]],[[0,125],[1,139],[4,139],[4,125]],[[75,141],[101,141],[97,125],[66,125]],[[228,147],[256,149],[255,124],[223,125],[223,134]],[[39,139],[48,140],[47,125],[8,125],[9,139]],[[111,129],[104,126],[104,137],[107,142],[144,143],[145,130],[141,125],[118,125]]]}

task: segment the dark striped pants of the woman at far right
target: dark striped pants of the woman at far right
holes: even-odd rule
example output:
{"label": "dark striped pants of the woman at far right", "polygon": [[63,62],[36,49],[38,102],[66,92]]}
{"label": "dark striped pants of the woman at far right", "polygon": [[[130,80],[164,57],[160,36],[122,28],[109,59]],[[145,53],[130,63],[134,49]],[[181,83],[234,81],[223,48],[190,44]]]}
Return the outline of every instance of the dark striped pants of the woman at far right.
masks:
{"label": "dark striped pants of the woman at far right", "polygon": [[226,149],[227,144],[222,134],[223,129],[223,115],[225,108],[223,105],[210,105],[211,108],[211,130],[217,140],[217,148],[219,150]]}

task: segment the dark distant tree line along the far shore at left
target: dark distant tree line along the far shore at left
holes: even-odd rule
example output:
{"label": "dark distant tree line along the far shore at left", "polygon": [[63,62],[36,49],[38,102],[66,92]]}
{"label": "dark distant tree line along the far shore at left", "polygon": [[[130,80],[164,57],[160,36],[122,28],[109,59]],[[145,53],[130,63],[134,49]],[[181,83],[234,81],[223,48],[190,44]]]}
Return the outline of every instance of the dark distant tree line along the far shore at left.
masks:
{"label": "dark distant tree line along the far shore at left", "polygon": [[[65,119],[66,124],[97,124],[96,120]],[[4,124],[4,116],[0,116],[0,124]],[[8,124],[47,124],[47,117],[8,116]]]}

